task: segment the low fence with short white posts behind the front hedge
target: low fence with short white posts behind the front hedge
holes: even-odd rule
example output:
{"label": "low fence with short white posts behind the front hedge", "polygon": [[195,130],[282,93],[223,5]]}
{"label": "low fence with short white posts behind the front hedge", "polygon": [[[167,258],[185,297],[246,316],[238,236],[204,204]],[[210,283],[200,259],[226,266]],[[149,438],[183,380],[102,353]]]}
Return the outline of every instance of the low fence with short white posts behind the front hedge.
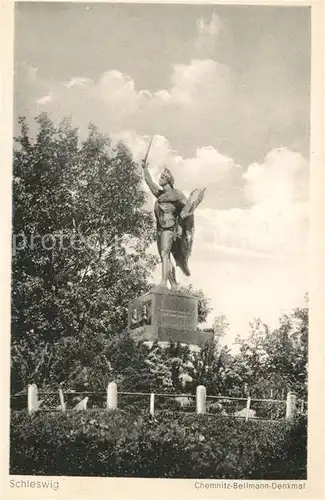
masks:
{"label": "low fence with short white posts behind the front hedge", "polygon": [[[286,399],[254,399],[250,396],[238,398],[230,396],[210,396],[200,385],[196,394],[147,393],[118,391],[115,382],[107,386],[105,392],[87,391],[38,391],[36,384],[27,388],[27,409],[29,414],[36,411],[81,411],[89,409],[121,409],[125,411],[149,410],[152,416],[158,411],[177,410],[189,413],[218,415],[262,420],[291,420],[297,415],[307,414],[307,403],[297,400],[288,392]],[[11,397],[11,410],[26,409],[26,393]]]}

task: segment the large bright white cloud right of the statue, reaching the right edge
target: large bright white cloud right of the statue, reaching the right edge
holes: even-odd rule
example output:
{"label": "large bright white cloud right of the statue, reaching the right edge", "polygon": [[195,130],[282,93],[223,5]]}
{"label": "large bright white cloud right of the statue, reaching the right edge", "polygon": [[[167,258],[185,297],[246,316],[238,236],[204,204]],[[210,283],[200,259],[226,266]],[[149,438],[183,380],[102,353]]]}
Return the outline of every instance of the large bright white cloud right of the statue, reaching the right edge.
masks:
{"label": "large bright white cloud right of the statue, reaching the right edge", "polygon": [[[308,163],[287,149],[270,151],[264,162],[242,174],[249,208],[202,208],[199,237],[210,252],[222,246],[286,258],[306,254]],[[201,234],[200,234],[201,233]]]}

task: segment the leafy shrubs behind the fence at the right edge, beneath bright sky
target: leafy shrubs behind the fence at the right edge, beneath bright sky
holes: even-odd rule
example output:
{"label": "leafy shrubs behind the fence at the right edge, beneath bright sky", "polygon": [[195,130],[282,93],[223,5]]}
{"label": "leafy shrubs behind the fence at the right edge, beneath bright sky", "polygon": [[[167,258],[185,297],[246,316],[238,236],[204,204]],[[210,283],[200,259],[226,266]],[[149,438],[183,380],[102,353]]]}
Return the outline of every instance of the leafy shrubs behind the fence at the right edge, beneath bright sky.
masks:
{"label": "leafy shrubs behind the fence at the right edge, beneath bright sky", "polygon": [[233,372],[248,385],[255,397],[283,398],[294,391],[307,396],[308,305],[280,318],[270,330],[260,320],[251,323],[248,339],[238,339],[240,353],[233,360]]}

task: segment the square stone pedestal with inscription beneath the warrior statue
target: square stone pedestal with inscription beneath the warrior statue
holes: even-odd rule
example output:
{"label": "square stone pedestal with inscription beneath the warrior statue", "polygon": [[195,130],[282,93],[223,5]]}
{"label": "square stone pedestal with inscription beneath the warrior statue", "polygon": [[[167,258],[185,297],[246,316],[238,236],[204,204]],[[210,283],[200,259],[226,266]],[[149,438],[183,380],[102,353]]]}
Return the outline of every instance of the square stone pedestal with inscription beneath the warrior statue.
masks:
{"label": "square stone pedestal with inscription beneath the warrior statue", "polygon": [[129,302],[128,328],[135,340],[202,345],[209,336],[197,329],[198,299],[155,286]]}

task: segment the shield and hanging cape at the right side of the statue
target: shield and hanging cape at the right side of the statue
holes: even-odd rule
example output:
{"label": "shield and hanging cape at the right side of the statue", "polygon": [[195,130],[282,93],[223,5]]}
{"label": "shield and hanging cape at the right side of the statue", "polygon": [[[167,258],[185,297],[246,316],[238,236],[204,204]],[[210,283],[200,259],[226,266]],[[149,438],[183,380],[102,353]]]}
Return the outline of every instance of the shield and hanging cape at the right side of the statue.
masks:
{"label": "shield and hanging cape at the right side of the statue", "polygon": [[172,245],[172,255],[176,265],[185,276],[190,276],[188,259],[191,255],[194,238],[194,211],[204,198],[205,189],[195,189],[189,196],[181,212],[181,234],[176,237]]}

